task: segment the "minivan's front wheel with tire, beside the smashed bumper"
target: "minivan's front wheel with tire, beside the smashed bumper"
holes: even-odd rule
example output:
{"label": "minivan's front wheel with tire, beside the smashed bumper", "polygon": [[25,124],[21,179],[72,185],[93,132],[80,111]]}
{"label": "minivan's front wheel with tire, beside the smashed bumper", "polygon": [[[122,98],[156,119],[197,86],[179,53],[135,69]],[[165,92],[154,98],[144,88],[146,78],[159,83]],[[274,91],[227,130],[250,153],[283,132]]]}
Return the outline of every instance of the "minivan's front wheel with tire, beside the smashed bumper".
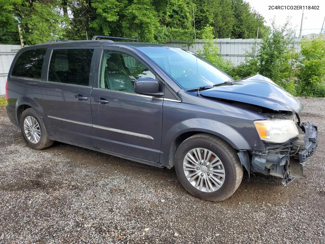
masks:
{"label": "minivan's front wheel with tire, beside the smashed bumper", "polygon": [[235,149],[210,134],[196,134],[180,144],[175,170],[184,188],[208,201],[223,201],[239,187],[243,168]]}

